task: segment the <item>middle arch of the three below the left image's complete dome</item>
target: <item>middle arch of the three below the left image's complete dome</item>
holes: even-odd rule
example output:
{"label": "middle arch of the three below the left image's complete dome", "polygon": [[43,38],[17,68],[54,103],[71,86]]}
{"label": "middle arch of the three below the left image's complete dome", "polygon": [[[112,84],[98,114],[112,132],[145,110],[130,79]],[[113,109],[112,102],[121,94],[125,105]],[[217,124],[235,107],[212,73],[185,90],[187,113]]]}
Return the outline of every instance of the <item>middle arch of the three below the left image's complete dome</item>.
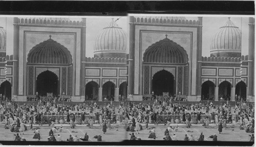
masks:
{"label": "middle arch of the three below the left image's complete dome", "polygon": [[111,81],[108,81],[103,84],[102,86],[102,97],[103,99],[106,97],[108,100],[114,101],[115,96],[115,84]]}

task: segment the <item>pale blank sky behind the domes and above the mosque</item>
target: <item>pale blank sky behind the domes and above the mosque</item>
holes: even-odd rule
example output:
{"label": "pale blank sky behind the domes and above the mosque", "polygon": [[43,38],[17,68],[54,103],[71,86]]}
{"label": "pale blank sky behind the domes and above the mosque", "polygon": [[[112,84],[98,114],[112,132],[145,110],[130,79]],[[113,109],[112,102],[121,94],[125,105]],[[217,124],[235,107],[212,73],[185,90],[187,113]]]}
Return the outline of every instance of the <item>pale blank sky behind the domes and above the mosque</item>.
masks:
{"label": "pale blank sky behind the domes and above the mosque", "polygon": [[[42,16],[40,16],[42,17]],[[230,16],[231,17],[231,16]],[[86,54],[87,57],[93,57],[94,41],[97,34],[112,21],[116,20],[119,27],[126,32],[126,37],[129,39],[129,17],[87,17],[87,42]],[[81,18],[70,18],[71,20],[81,20]],[[188,20],[198,20],[197,17],[186,17]],[[203,17],[203,38],[202,38],[202,56],[210,56],[211,37],[224,26],[228,20],[227,17]],[[248,17],[231,17],[230,20],[242,31],[242,55],[248,55]],[[7,31],[7,55],[13,54],[13,17],[3,17],[0,15],[0,26]],[[129,40],[127,40],[129,41]],[[127,45],[129,43],[127,42]],[[129,47],[127,46],[127,49]]]}

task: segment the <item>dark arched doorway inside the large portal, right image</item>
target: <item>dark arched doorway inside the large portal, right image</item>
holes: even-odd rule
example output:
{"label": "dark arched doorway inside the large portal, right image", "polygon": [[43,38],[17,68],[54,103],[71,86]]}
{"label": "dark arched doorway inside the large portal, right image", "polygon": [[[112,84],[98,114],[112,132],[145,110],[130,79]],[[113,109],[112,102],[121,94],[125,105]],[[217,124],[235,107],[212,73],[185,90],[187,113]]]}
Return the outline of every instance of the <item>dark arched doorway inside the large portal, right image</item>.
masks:
{"label": "dark arched doorway inside the large portal, right image", "polygon": [[176,86],[174,75],[166,70],[158,71],[152,80],[152,90],[155,95],[163,95],[163,92],[169,92],[169,94],[175,94]]}

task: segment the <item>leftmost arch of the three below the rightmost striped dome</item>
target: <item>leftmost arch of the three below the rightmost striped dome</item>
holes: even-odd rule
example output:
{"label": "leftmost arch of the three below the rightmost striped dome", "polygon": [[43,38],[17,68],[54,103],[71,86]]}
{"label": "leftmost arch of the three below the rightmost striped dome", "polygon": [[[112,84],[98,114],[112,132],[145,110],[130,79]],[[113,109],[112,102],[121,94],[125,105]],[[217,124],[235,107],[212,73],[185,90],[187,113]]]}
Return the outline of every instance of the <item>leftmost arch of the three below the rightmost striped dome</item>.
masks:
{"label": "leftmost arch of the three below the rightmost striped dome", "polygon": [[201,90],[202,100],[214,99],[214,87],[215,87],[215,84],[209,80],[205,81],[202,84],[202,90]]}

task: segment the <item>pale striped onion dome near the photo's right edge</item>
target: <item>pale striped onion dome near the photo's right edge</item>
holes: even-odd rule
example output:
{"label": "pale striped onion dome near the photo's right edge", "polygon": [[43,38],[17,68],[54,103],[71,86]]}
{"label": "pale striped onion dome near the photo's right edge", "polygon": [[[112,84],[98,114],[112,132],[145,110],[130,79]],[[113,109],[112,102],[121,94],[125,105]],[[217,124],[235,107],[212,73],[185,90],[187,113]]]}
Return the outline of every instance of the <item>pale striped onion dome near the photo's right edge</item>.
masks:
{"label": "pale striped onion dome near the photo's right edge", "polygon": [[241,57],[241,30],[228,17],[227,22],[212,36],[211,57]]}

